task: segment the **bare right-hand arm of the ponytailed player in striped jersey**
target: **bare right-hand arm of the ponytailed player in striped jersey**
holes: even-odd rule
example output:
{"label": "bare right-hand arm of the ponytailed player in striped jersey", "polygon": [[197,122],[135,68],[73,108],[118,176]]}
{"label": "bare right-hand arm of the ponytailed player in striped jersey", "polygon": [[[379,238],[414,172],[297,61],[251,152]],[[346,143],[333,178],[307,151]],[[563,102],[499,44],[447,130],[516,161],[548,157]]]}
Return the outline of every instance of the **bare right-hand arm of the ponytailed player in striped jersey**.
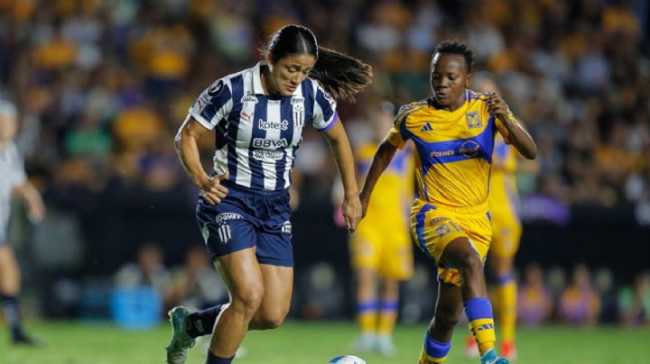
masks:
{"label": "bare right-hand arm of the ponytailed player in striped jersey", "polygon": [[358,196],[357,176],[348,135],[343,129],[342,123],[334,124],[330,130],[322,132],[322,134],[330,144],[332,156],[339,168],[344,191],[343,216],[345,216],[348,230],[354,232],[361,220],[361,203]]}

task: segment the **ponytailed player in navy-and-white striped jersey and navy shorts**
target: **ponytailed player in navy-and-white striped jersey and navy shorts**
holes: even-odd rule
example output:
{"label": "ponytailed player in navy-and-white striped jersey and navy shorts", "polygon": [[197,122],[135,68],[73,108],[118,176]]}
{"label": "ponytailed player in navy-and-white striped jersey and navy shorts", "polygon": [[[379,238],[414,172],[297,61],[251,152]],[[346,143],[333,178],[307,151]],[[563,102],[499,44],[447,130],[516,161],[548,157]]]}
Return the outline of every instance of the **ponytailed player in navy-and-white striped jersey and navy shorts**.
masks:
{"label": "ponytailed player in navy-and-white striped jersey and navy shorts", "polygon": [[[354,160],[335,98],[369,84],[371,68],[319,47],[300,25],[275,32],[265,61],[218,79],[196,99],[176,136],[176,150],[200,188],[197,219],[211,258],[228,286],[228,305],[170,312],[170,363],[184,362],[193,338],[211,333],[206,363],[229,363],[246,331],[278,327],[293,285],[288,187],[302,129],[330,143],[345,190],[349,231],[361,218]],[[214,130],[214,171],[200,165],[197,141]],[[214,327],[214,329],[213,329]]]}

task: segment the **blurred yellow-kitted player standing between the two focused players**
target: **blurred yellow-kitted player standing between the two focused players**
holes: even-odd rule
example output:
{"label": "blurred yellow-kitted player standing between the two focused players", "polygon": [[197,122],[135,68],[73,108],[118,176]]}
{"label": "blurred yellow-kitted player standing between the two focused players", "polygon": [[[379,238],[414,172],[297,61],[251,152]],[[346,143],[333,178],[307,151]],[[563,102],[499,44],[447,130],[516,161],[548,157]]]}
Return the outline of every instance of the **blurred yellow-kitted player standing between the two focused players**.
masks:
{"label": "blurred yellow-kitted player standing between the two focused players", "polygon": [[[357,171],[366,174],[379,141],[390,130],[395,106],[383,103],[373,115],[376,138],[355,149]],[[372,205],[357,232],[350,235],[351,263],[357,277],[357,321],[361,335],[356,350],[395,354],[399,281],[413,276],[413,249],[408,232],[408,205],[413,200],[413,162],[409,150],[395,155],[377,181]],[[380,291],[377,292],[377,278]]]}

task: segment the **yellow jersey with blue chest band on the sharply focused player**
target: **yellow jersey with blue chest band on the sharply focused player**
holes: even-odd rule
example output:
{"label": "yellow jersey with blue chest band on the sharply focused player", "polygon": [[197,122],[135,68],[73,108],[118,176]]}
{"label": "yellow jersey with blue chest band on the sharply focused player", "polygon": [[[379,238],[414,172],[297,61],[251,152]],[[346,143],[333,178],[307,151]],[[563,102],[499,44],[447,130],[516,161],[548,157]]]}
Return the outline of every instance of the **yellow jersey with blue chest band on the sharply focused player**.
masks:
{"label": "yellow jersey with blue chest band on the sharply focused player", "polygon": [[[487,112],[488,97],[467,90],[465,104],[453,112],[437,109],[432,99],[400,108],[387,140],[400,149],[413,140],[422,201],[448,207],[487,204],[495,133],[506,133]],[[509,109],[508,115],[518,123]]]}

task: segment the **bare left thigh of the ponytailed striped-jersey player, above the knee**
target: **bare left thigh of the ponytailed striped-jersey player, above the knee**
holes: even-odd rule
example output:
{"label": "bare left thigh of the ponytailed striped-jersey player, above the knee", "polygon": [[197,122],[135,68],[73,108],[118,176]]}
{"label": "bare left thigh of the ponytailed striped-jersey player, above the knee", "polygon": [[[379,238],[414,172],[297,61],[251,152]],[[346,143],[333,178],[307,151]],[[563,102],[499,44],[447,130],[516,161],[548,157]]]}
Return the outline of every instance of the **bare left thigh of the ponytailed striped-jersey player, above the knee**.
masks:
{"label": "bare left thigh of the ponytailed striped-jersey player, above the knee", "polygon": [[260,305],[265,295],[262,269],[255,257],[255,247],[237,250],[215,259],[215,267],[223,278],[233,301]]}

